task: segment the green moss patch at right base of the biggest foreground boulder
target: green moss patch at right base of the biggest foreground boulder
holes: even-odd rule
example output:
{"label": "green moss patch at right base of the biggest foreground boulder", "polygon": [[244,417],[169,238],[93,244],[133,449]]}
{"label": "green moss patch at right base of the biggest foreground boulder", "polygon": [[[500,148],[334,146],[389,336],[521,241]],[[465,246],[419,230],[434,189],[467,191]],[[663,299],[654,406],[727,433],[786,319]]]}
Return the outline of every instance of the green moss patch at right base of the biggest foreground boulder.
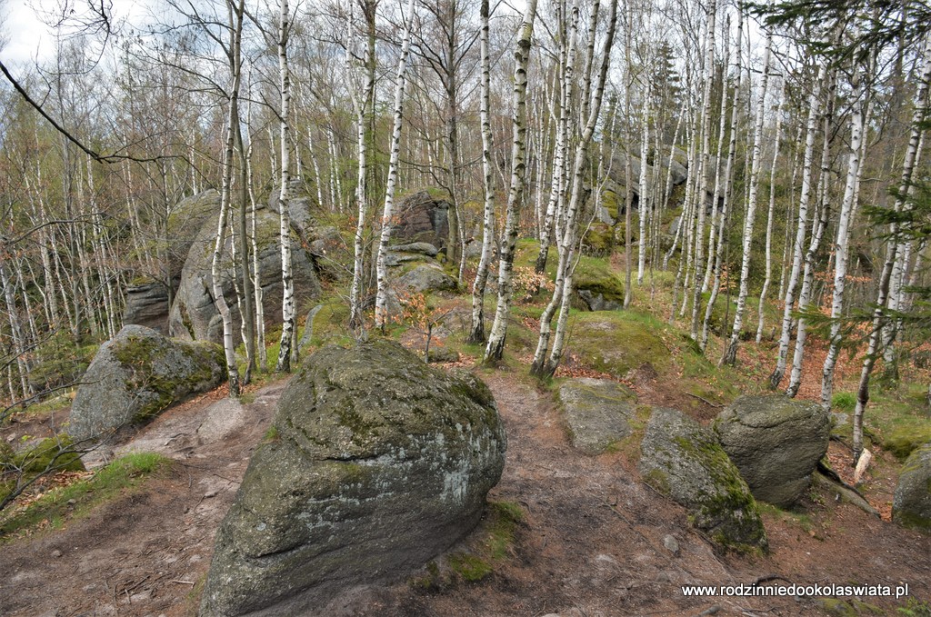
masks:
{"label": "green moss patch at right base of the biggest foreground boulder", "polygon": [[438,561],[409,583],[415,589],[439,591],[458,583],[479,583],[511,557],[525,515],[518,503],[491,502],[477,530],[466,543]]}

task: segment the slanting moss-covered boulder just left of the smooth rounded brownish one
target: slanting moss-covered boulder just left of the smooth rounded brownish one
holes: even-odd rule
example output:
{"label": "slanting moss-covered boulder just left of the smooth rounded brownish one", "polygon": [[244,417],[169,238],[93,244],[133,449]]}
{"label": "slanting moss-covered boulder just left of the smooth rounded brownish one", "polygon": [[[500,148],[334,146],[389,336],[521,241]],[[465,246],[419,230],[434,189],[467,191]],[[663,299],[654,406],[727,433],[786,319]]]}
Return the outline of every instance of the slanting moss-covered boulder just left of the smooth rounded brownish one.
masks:
{"label": "slanting moss-covered boulder just left of the smooth rounded brownish one", "polygon": [[675,409],[656,408],[641,441],[640,472],[683,505],[689,521],[724,548],[767,547],[747,483],[714,434]]}

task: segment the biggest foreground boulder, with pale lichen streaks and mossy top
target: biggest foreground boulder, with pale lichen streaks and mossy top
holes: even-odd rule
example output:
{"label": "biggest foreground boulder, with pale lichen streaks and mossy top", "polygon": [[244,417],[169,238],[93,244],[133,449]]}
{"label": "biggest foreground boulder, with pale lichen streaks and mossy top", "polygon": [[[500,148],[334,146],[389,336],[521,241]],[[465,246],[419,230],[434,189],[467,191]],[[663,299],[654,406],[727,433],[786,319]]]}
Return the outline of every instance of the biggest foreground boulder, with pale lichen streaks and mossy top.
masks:
{"label": "biggest foreground boulder, with pale lichen streaks and mossy top", "polygon": [[488,387],[392,342],[325,348],[282,393],[223,524],[201,614],[326,614],[479,522],[506,438]]}

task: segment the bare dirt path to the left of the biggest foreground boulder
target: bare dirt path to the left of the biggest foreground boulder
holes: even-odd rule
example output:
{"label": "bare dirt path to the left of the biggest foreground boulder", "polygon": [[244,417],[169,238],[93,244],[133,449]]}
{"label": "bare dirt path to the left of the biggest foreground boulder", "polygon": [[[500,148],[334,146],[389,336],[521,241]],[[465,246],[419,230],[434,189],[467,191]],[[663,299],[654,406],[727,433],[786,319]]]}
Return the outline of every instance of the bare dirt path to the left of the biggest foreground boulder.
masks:
{"label": "bare dirt path to the left of the biggest foreground boulder", "polygon": [[65,530],[0,547],[0,614],[194,614],[213,535],[283,388],[267,386],[249,405],[218,390],[170,409],[117,449],[177,463]]}

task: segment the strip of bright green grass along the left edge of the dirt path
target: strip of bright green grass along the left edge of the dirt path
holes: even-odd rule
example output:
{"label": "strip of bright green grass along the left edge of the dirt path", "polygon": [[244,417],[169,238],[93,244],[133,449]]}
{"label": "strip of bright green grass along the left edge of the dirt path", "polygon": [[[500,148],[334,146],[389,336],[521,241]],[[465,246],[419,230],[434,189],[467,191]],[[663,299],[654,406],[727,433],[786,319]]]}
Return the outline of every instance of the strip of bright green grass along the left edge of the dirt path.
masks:
{"label": "strip of bright green grass along the left edge of the dirt path", "polygon": [[33,503],[0,514],[0,543],[41,530],[60,530],[101,503],[138,489],[146,477],[168,470],[170,465],[170,459],[154,452],[127,454],[93,476],[47,490]]}

